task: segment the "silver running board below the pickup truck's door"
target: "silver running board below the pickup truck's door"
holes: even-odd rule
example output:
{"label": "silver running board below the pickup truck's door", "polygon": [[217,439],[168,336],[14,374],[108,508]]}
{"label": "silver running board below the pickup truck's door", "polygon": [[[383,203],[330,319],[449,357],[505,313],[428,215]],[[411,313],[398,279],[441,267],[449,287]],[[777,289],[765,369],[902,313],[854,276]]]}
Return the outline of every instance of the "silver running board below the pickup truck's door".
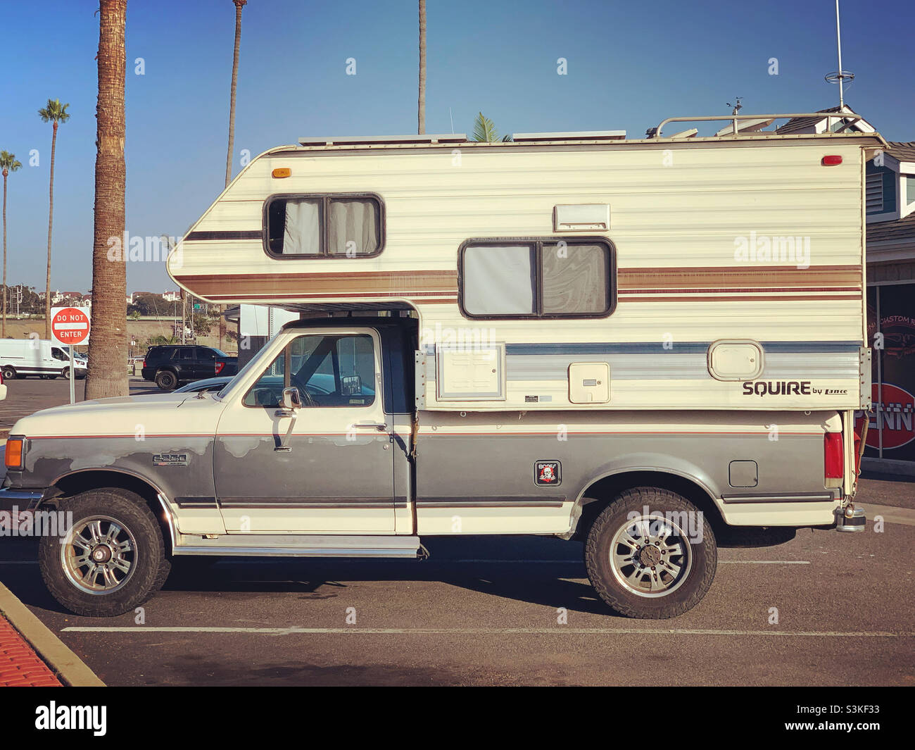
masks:
{"label": "silver running board below the pickup truck's door", "polygon": [[419,537],[346,535],[225,534],[201,538],[178,534],[175,555],[249,558],[425,558]]}

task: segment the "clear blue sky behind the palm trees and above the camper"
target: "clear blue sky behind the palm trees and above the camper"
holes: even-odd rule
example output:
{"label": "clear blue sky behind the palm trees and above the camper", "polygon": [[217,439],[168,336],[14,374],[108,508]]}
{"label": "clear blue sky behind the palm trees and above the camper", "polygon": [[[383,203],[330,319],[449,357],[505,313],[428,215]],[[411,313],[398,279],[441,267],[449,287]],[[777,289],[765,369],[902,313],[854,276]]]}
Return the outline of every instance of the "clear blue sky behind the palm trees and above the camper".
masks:
{"label": "clear blue sky behind the palm trees and above the camper", "polygon": [[[663,118],[816,110],[838,103],[833,0],[427,0],[426,130],[470,132],[480,110],[501,133],[625,129]],[[95,0],[6,3],[0,148],[9,178],[8,281],[44,288],[48,97],[70,103],[55,165],[51,288],[92,282],[98,17]],[[415,2],[249,0],[235,126],[256,155],[306,135],[415,132]],[[846,102],[888,140],[915,139],[911,0],[842,6]],[[130,0],[127,229],[183,234],[221,191],[229,116],[231,0]],[[770,58],[779,75],[770,75]],[[135,74],[143,58],[145,74]],[[355,58],[356,75],[346,74]],[[557,75],[557,59],[567,75]],[[38,167],[28,166],[39,151]],[[128,268],[128,290],[175,288],[161,264]]]}

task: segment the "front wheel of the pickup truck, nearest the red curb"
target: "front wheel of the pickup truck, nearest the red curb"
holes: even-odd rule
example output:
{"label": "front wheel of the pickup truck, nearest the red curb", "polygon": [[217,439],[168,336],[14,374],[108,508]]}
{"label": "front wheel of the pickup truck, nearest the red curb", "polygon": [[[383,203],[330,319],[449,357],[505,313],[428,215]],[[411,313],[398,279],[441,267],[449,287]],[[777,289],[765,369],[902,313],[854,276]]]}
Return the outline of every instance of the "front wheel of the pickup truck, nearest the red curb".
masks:
{"label": "front wheel of the pickup truck, nearest the red curb", "polygon": [[139,495],[90,490],[62,500],[59,535],[42,536],[38,566],[51,595],[75,614],[131,612],[165,582],[162,532]]}

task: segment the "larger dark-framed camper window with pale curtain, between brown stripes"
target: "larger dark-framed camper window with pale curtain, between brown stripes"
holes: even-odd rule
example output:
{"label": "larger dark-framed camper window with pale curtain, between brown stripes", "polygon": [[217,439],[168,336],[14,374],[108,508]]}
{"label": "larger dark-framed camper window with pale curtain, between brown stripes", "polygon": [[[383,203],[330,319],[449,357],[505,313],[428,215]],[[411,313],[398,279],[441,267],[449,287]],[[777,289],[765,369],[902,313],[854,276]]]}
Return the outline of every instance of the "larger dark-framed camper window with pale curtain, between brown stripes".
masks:
{"label": "larger dark-framed camper window with pale curtain, between brown stripes", "polygon": [[468,318],[597,318],[613,310],[614,248],[603,238],[468,240],[458,265]]}

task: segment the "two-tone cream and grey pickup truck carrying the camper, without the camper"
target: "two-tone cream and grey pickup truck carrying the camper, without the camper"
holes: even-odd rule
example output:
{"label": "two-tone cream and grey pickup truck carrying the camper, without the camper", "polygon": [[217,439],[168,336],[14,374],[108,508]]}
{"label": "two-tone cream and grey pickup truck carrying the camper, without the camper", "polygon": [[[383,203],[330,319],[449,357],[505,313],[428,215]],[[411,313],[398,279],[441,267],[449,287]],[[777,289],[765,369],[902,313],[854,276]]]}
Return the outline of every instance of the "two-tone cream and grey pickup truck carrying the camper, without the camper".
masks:
{"label": "two-tone cream and grey pickup truck carrying the camper, without the camper", "polygon": [[425,410],[423,352],[410,317],[294,321],[219,392],[38,411],[6,443],[0,512],[64,514],[40,571],[86,615],[132,611],[181,556],[535,534],[584,542],[620,614],[666,618],[702,599],[727,527],[864,528],[836,412]]}

